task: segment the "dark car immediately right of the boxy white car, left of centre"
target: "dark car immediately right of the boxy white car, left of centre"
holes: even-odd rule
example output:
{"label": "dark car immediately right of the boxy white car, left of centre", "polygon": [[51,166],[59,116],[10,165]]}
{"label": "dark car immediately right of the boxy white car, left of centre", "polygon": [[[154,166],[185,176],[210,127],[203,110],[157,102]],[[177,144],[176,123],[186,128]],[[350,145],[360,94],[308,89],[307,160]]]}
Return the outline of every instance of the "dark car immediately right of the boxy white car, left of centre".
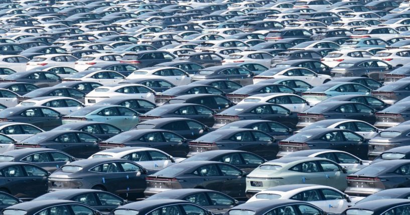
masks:
{"label": "dark car immediately right of the boxy white car, left of centre", "polygon": [[161,93],[161,95],[155,95],[155,103],[162,105],[172,98],[188,94],[213,94],[213,95],[225,95],[225,93],[216,87],[209,85],[182,85],[173,87]]}

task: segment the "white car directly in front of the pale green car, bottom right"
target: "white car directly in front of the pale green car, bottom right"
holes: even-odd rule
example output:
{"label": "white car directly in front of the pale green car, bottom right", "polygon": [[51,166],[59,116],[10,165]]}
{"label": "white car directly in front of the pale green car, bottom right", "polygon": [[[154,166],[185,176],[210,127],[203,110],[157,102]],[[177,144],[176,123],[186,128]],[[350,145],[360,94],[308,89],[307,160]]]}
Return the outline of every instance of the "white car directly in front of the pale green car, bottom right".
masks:
{"label": "white car directly in front of the pale green car, bottom right", "polygon": [[307,201],[326,212],[337,214],[347,209],[351,202],[349,196],[343,192],[330,186],[316,184],[293,184],[271,187],[256,193],[246,202],[271,199]]}

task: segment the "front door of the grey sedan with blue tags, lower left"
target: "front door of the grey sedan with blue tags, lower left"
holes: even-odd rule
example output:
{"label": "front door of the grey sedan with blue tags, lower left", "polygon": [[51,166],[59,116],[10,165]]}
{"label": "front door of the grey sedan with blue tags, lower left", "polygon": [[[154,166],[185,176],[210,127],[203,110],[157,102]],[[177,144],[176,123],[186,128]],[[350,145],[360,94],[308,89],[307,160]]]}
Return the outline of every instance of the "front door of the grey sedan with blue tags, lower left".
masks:
{"label": "front door of the grey sedan with blue tags, lower left", "polygon": [[117,184],[117,192],[125,194],[124,197],[128,197],[132,193],[132,196],[136,198],[144,197],[144,190],[146,188],[145,177],[146,174],[140,166],[128,162],[117,162],[121,172],[118,174],[119,178],[126,178],[121,180],[120,184]]}

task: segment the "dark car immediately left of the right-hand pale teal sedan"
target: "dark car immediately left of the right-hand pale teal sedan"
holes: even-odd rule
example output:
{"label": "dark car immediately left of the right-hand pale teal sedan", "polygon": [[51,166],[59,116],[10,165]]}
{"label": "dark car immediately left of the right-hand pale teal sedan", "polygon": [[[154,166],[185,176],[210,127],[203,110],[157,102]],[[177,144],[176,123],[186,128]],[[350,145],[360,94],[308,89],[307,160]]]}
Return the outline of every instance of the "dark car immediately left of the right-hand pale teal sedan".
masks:
{"label": "dark car immediately left of the right-hand pale teal sedan", "polygon": [[262,93],[292,93],[296,94],[296,91],[283,84],[252,84],[244,86],[240,89],[233,91],[226,95],[230,101],[234,104],[238,104],[243,99],[249,96],[254,96]]}

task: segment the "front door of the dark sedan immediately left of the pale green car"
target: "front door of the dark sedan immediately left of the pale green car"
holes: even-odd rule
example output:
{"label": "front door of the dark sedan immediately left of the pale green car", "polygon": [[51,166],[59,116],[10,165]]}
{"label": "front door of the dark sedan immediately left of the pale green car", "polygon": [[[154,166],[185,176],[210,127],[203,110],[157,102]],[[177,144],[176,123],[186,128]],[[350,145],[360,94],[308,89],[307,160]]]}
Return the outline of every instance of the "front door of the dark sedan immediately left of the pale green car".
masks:
{"label": "front door of the dark sedan immediately left of the pale green car", "polygon": [[245,196],[245,177],[243,177],[242,171],[227,164],[217,164],[217,166],[224,179],[220,188],[221,192],[232,197]]}

